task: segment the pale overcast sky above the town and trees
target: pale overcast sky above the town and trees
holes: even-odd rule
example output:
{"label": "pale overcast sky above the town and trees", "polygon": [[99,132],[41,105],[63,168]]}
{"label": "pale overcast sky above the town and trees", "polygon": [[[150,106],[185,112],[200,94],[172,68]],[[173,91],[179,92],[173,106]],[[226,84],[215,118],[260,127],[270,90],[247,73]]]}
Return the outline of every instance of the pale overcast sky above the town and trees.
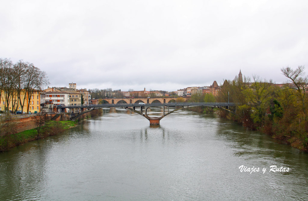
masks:
{"label": "pale overcast sky above the town and trees", "polygon": [[[50,86],[177,90],[308,69],[308,1],[1,1],[0,58]],[[306,69],[306,75],[308,70]]]}

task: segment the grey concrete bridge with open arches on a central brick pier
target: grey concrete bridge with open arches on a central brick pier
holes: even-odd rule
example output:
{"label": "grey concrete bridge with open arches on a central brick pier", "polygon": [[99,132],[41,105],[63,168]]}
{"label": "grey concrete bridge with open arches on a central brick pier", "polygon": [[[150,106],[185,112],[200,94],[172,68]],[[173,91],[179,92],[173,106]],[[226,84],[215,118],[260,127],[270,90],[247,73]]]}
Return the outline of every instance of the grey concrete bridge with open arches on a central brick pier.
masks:
{"label": "grey concrete bridge with open arches on a central brick pier", "polygon": [[[72,121],[75,121],[78,119],[81,115],[95,110],[99,108],[104,108],[104,107],[118,107],[118,108],[123,108],[129,111],[133,111],[139,115],[144,116],[150,121],[150,125],[156,125],[160,124],[160,119],[163,119],[165,116],[184,109],[188,107],[196,107],[196,106],[207,106],[207,107],[217,107],[222,110],[226,110],[228,112],[231,112],[235,114],[236,111],[236,103],[146,103],[146,104],[98,104],[98,105],[82,105],[82,106],[58,106],[57,110],[59,112],[64,112],[66,108],[69,109],[70,113],[75,113],[75,117],[72,118]],[[150,107],[160,107],[163,109],[163,114],[161,117],[149,117],[148,116],[148,108]]]}

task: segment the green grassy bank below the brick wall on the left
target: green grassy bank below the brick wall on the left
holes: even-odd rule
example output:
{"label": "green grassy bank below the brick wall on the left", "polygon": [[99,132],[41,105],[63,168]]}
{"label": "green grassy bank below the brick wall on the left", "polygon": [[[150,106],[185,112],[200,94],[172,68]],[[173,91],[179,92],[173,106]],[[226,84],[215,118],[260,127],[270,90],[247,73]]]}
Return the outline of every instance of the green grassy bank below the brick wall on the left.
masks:
{"label": "green grassy bank below the brick wall on the left", "polygon": [[16,147],[35,139],[42,139],[47,136],[57,135],[64,130],[75,127],[76,124],[76,122],[72,121],[48,121],[40,128],[39,135],[37,131],[38,128],[34,128],[16,134],[0,136],[0,151],[7,151],[12,147]]}

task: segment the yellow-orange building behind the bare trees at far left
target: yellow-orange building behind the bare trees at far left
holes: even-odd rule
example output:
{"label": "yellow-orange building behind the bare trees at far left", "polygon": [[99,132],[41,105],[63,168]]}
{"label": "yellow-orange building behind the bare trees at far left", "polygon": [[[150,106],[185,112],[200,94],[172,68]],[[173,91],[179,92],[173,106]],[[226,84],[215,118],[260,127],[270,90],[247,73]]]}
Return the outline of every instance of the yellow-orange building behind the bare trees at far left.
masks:
{"label": "yellow-orange building behind the bare trees at far left", "polygon": [[[31,113],[40,112],[40,91],[39,90],[33,91],[33,93],[30,96],[30,104],[29,105],[28,105],[29,99],[28,99],[27,94],[21,93],[20,94],[21,100],[23,101],[25,95],[26,95],[26,98],[25,98],[25,104],[24,104],[24,107],[23,107],[23,111],[25,113],[27,113],[28,107],[29,107],[29,112],[31,112]],[[6,100],[5,100],[5,93],[2,92],[1,97],[0,97],[0,111],[5,111],[6,108],[8,110],[12,110],[12,111],[16,111],[16,110],[21,111],[22,110],[16,94],[14,94],[10,98],[10,102],[9,102],[9,105],[8,105],[6,103]]]}

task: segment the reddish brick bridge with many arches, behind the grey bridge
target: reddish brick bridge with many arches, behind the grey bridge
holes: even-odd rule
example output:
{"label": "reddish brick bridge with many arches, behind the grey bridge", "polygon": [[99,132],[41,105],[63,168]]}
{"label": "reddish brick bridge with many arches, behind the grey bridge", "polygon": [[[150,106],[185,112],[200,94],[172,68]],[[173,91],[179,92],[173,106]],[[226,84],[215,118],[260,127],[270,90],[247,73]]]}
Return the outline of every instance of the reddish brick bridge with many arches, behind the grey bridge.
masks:
{"label": "reddish brick bridge with many arches, behind the grey bridge", "polygon": [[[103,99],[92,99],[92,104],[119,104],[119,103],[171,103],[176,102],[177,98],[184,98],[184,100],[188,100],[190,97],[187,96],[178,96],[178,97],[154,97],[154,98],[146,98],[146,97],[137,97],[137,98],[103,98]],[[182,99],[183,100],[183,99]]]}

